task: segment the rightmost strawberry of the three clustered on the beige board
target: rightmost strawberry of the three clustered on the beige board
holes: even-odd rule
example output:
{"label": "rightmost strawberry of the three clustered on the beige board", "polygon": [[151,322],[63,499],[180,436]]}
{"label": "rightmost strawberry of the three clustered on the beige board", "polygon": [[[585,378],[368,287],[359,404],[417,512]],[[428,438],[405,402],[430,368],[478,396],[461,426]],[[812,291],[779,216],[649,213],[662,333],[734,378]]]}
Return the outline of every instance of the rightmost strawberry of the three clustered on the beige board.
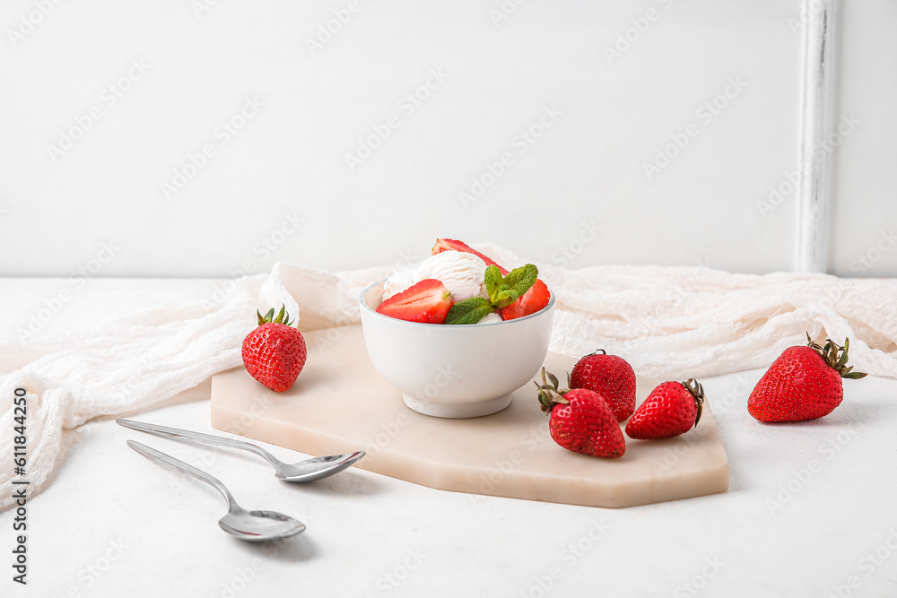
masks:
{"label": "rightmost strawberry of the three clustered on the beige board", "polygon": [[686,382],[661,382],[632,414],[626,424],[626,434],[640,440],[684,434],[698,425],[703,403],[704,388],[694,378]]}

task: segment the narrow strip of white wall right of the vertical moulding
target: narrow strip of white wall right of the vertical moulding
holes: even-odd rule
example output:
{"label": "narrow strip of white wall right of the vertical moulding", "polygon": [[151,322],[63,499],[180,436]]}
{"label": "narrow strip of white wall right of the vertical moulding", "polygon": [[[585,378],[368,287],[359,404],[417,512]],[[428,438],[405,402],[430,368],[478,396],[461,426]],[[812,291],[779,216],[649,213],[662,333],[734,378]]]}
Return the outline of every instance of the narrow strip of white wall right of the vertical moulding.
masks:
{"label": "narrow strip of white wall right of the vertical moulding", "polygon": [[838,114],[860,121],[835,154],[834,273],[897,276],[897,3],[843,3]]}

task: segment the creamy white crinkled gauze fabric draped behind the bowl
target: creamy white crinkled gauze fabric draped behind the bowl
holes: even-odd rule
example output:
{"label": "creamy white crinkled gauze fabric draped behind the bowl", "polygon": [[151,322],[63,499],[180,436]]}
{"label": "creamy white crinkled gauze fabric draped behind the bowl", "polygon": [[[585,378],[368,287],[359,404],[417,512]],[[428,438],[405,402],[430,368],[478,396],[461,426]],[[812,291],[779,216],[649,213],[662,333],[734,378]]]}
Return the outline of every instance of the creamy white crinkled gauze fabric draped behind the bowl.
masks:
{"label": "creamy white crinkled gauze fabric draped behind the bowl", "polygon": [[[477,248],[508,267],[522,264],[501,247]],[[536,265],[557,297],[552,351],[577,357],[605,349],[640,375],[685,379],[768,367],[788,346],[806,343],[809,332],[836,342],[849,337],[858,370],[897,377],[897,281]],[[51,479],[62,429],[148,409],[239,366],[257,308],[284,303],[302,331],[357,324],[361,289],[393,272],[275,264],[270,274],[239,279],[211,308],[196,300],[83,334],[0,343],[0,510],[14,505],[15,388],[28,391],[27,479],[34,496]]]}

